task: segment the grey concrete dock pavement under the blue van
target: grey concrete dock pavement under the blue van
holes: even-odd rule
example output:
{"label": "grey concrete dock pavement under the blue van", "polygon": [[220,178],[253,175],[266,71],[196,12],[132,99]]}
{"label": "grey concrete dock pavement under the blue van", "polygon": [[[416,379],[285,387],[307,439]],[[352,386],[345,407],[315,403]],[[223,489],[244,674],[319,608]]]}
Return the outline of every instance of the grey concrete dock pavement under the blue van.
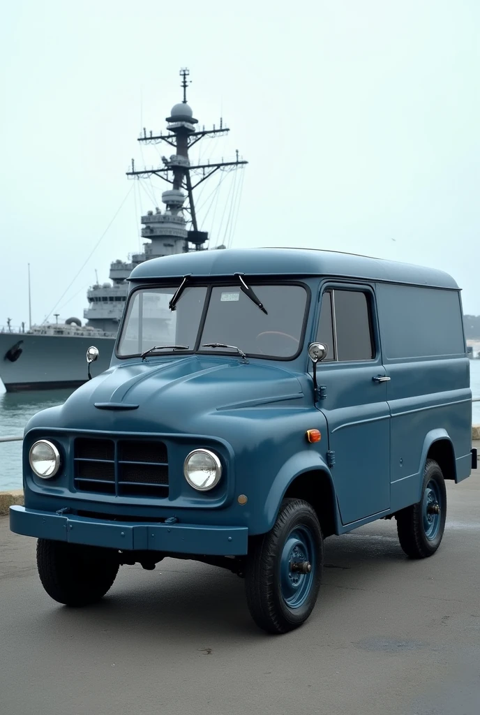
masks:
{"label": "grey concrete dock pavement under the blue van", "polygon": [[9,715],[479,715],[480,474],[449,485],[444,541],[409,561],[395,521],[326,541],[306,625],[266,636],[244,583],[124,566],[97,606],[46,596],[0,517],[0,711]]}

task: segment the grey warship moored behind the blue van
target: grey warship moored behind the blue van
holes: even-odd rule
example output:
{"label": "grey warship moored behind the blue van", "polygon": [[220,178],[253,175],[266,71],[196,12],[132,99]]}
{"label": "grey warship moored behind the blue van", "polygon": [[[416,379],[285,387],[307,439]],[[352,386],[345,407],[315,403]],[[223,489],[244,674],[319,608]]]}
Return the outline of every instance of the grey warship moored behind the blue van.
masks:
{"label": "grey warship moored behind the blue van", "polygon": [[[161,157],[158,168],[136,169],[134,159],[126,173],[129,179],[160,177],[170,184],[161,194],[163,211],[159,207],[141,217],[141,236],[146,239],[143,252],[132,253],[127,261],[115,260],[110,265],[110,282],[92,285],[86,293],[88,307],[84,310],[84,325],[77,317],[59,322],[25,323],[15,329],[11,320],[0,330],[0,380],[7,392],[76,388],[87,380],[86,350],[95,342],[99,359],[92,365],[92,375],[109,368],[116,334],[124,311],[128,280],[139,263],[151,258],[199,250],[219,250],[224,245],[209,248],[209,235],[199,230],[194,203],[194,190],[216,172],[241,169],[247,163],[239,152],[231,162],[198,162],[191,164],[189,149],[202,139],[224,136],[229,129],[220,119],[210,129],[198,127],[198,120],[186,101],[189,70],[180,70],[183,99],[166,118],[166,132],[143,129],[138,141],[143,144],[167,144],[174,154]],[[217,186],[218,189],[218,186]],[[185,215],[186,214],[186,215]],[[30,313],[31,315],[31,313]]]}

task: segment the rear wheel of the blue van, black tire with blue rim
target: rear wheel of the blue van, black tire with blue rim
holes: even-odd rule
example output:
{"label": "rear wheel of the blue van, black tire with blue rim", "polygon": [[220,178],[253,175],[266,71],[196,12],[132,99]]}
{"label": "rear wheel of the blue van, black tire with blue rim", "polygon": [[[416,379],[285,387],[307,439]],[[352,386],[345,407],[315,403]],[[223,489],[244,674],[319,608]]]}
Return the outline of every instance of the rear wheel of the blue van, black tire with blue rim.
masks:
{"label": "rear wheel of the blue van, black tire with blue rim", "polygon": [[[433,496],[432,496],[433,494]],[[439,507],[439,513],[430,513]],[[429,511],[430,510],[430,511]],[[444,536],[446,488],[444,475],[433,459],[427,459],[419,503],[396,513],[400,546],[410,558],[432,556]],[[435,526],[435,528],[434,528]]]}

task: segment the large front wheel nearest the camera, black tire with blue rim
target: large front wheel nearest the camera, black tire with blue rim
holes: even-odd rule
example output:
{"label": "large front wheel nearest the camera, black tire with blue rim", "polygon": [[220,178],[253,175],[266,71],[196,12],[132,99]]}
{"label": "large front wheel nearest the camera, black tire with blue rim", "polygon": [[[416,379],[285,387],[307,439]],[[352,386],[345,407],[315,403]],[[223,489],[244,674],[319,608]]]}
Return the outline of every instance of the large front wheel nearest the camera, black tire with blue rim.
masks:
{"label": "large front wheel nearest the camera, black tire with blue rim", "polygon": [[[288,566],[293,560],[289,548],[296,543],[295,535],[299,544],[304,538],[304,551],[298,546],[294,548],[299,548],[296,551],[299,562],[311,563],[310,573],[293,572]],[[306,561],[302,561],[306,556]],[[246,600],[256,625],[267,633],[287,633],[301,626],[314,609],[323,563],[323,537],[314,508],[301,499],[285,499],[271,531],[253,538],[249,544]],[[287,598],[289,593],[292,595]]]}

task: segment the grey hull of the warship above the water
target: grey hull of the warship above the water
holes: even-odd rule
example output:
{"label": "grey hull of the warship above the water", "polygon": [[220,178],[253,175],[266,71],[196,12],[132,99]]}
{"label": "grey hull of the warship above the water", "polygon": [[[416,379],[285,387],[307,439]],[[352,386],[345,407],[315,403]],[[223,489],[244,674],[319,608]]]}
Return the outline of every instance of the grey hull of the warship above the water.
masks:
{"label": "grey hull of the warship above the water", "polygon": [[7,393],[77,388],[88,379],[87,348],[99,348],[99,359],[91,364],[95,377],[109,368],[114,344],[114,337],[0,333],[0,380]]}

